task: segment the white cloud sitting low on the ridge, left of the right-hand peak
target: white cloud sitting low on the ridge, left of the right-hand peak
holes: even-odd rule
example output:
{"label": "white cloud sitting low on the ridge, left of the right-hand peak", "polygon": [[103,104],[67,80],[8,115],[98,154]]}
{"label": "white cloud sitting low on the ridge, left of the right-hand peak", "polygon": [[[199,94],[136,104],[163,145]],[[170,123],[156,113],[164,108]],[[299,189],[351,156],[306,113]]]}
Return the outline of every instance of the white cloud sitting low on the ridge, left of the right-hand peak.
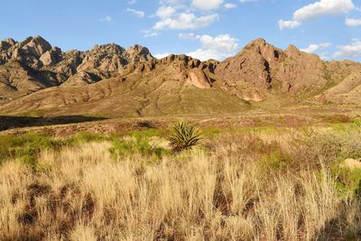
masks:
{"label": "white cloud sitting low on the ridge, left of the right-hand peak", "polygon": [[209,35],[196,35],[194,33],[181,33],[179,37],[180,39],[200,42],[201,48],[187,53],[187,55],[199,60],[224,60],[234,55],[238,49],[238,40],[229,34],[220,34],[212,37]]}

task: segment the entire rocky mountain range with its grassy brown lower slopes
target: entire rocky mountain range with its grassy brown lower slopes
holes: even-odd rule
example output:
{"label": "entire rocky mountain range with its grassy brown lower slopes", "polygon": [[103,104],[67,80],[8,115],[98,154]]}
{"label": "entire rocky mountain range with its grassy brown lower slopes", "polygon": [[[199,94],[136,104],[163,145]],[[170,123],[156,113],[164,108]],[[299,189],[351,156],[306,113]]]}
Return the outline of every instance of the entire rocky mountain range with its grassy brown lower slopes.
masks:
{"label": "entire rocky mountain range with its grassy brown lower slopes", "polygon": [[361,64],[323,61],[257,39],[222,62],[186,55],[155,59],[140,45],[89,51],[40,36],[0,42],[0,113],[155,116],[237,112],[277,101],[361,103]]}

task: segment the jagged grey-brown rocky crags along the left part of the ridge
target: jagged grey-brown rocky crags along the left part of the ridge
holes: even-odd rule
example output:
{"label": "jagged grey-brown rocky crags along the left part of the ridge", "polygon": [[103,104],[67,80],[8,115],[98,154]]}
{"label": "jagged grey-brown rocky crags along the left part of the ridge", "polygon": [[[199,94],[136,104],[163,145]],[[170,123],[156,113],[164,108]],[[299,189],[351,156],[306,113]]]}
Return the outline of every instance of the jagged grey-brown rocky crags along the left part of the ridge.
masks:
{"label": "jagged grey-brown rocky crags along the left part of the ridge", "polygon": [[[51,47],[41,36],[28,37],[23,42],[5,39],[0,42],[0,69],[8,61],[17,61],[23,68],[39,72],[33,79],[57,82],[65,86],[87,85],[125,73],[128,65],[143,62],[144,70],[153,70],[155,60],[147,48],[134,45],[125,50],[115,43],[96,45],[90,51],[62,52]],[[143,70],[141,70],[143,71]],[[26,77],[18,77],[26,79]],[[49,78],[49,79],[48,79]],[[69,81],[69,83],[65,83]],[[5,82],[3,79],[2,82]],[[32,89],[29,89],[32,90]],[[5,91],[0,96],[5,96]],[[16,91],[16,90],[15,90]]]}

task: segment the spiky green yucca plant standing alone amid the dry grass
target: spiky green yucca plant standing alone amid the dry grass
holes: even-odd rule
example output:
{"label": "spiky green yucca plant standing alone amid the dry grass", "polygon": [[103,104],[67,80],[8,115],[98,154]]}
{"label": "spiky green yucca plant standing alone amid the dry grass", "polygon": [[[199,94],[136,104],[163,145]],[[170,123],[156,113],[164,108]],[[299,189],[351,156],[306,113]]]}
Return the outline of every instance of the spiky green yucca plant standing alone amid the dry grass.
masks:
{"label": "spiky green yucca plant standing alone amid the dry grass", "polygon": [[183,121],[171,126],[169,141],[173,152],[190,150],[202,140],[199,129]]}

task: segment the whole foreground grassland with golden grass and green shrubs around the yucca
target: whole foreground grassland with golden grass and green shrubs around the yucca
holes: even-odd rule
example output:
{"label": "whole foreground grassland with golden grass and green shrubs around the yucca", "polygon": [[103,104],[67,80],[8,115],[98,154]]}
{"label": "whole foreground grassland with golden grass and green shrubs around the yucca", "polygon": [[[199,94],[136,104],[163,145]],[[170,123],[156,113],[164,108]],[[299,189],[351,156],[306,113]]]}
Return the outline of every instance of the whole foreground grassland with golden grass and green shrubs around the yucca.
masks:
{"label": "whole foreground grassland with golden grass and green shrubs around the yucca", "polygon": [[361,123],[0,137],[1,240],[357,240]]}

